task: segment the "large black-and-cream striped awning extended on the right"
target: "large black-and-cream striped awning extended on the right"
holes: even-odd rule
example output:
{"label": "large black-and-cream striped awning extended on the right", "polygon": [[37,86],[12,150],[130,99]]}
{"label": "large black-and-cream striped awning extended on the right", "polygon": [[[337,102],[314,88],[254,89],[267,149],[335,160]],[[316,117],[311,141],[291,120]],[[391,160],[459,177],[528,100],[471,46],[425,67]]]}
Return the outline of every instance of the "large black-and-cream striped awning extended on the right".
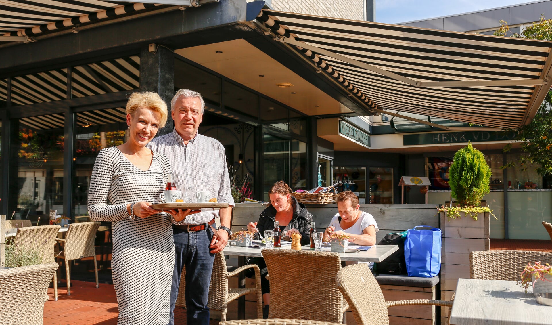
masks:
{"label": "large black-and-cream striped awning extended on the right", "polygon": [[257,22],[371,112],[527,124],[552,82],[552,42],[263,10]]}

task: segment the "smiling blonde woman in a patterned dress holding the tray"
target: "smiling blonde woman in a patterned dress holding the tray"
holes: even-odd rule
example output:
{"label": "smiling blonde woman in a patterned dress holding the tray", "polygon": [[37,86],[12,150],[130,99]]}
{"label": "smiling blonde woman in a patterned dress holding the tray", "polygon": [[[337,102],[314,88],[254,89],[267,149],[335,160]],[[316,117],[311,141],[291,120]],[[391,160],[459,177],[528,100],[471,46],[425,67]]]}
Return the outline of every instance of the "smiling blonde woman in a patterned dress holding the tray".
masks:
{"label": "smiling blonde woman in a patterned dress holding the tray", "polygon": [[[133,93],[126,104],[129,140],[98,153],[88,194],[88,214],[113,222],[112,274],[118,324],[169,322],[174,267],[172,224],[160,203],[171,164],[146,147],[167,121],[167,105],[156,93]],[[168,211],[175,220],[194,213]]]}

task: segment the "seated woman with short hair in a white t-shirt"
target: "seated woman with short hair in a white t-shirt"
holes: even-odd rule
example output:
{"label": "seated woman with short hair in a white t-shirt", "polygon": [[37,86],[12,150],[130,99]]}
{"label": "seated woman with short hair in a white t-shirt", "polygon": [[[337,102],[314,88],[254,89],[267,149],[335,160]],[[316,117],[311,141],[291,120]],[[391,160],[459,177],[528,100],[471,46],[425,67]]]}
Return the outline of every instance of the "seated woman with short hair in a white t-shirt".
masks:
{"label": "seated woman with short hair in a white t-shirt", "polygon": [[324,232],[323,241],[330,239],[330,233],[345,233],[351,236],[349,242],[359,246],[376,244],[378,224],[374,217],[360,210],[358,198],[352,191],[344,191],[337,195],[337,211],[330,226]]}

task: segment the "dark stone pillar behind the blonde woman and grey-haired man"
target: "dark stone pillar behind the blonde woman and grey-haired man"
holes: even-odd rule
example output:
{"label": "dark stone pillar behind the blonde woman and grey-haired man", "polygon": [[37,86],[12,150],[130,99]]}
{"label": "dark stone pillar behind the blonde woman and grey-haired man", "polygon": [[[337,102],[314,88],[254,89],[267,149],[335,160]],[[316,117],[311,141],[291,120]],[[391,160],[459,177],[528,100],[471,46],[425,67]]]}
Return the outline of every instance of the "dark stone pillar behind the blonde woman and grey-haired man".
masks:
{"label": "dark stone pillar behind the blonde woman and grey-haired man", "polygon": [[171,118],[171,99],[174,95],[174,53],[167,47],[156,44],[155,54],[149,46],[140,55],[140,90],[156,92],[167,103],[169,117],[167,124],[157,132],[157,136],[171,133],[174,122]]}

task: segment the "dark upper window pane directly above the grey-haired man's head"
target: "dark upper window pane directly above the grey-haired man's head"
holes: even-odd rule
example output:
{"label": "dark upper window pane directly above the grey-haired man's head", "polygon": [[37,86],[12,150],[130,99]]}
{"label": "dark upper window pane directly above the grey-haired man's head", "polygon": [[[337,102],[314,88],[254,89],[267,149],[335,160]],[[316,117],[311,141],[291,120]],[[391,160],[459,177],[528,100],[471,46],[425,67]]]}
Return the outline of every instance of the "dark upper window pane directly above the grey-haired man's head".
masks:
{"label": "dark upper window pane directly above the grey-haired man's head", "polygon": [[174,90],[190,89],[205,103],[220,106],[221,79],[182,60],[174,59]]}

